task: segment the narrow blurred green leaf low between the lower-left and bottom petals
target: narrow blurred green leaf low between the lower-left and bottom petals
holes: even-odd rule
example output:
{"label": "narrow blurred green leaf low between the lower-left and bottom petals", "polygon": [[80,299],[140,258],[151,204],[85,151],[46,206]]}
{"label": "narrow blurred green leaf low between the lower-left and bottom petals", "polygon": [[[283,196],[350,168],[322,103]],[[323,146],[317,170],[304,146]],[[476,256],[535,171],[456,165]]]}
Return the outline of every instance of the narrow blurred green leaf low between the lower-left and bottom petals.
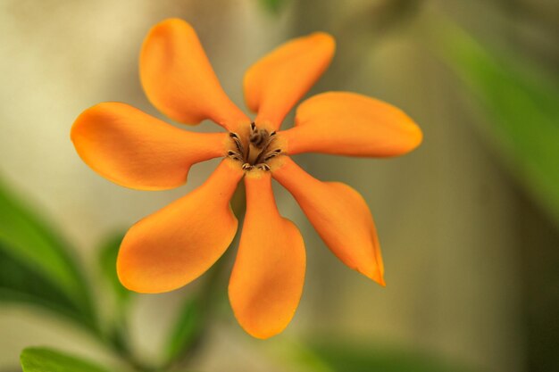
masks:
{"label": "narrow blurred green leaf low between the lower-left and bottom petals", "polygon": [[196,343],[203,330],[203,316],[198,297],[189,298],[184,303],[165,344],[166,360],[179,360]]}

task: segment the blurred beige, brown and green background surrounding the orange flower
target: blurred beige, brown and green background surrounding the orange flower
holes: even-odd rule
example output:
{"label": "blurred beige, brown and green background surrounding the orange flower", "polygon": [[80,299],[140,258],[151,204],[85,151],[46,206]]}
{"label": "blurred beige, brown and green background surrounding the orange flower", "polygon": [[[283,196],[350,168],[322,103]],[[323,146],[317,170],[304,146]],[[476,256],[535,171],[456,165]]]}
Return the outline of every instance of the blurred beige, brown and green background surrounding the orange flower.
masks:
{"label": "blurred beige, brown and green background surrounding the orange flower", "polygon": [[[108,371],[165,356],[181,371],[559,370],[558,14],[554,0],[2,0],[0,371],[21,370],[28,346]],[[424,142],[401,158],[296,159],[363,194],[386,288],[336,260],[280,187],[280,211],[308,255],[303,299],[283,334],[259,341],[238,327],[226,294],[234,249],[213,286],[202,277],[132,295],[114,283],[119,236],[216,164],[196,165],[177,190],[140,192],[97,176],[71,145],[73,120],[99,102],[162,117],[140,87],[138,52],[168,17],[194,26],[239,107],[253,62],[323,30],[338,49],[310,95],[371,95],[416,120]],[[212,317],[193,316],[188,299],[208,290]]]}

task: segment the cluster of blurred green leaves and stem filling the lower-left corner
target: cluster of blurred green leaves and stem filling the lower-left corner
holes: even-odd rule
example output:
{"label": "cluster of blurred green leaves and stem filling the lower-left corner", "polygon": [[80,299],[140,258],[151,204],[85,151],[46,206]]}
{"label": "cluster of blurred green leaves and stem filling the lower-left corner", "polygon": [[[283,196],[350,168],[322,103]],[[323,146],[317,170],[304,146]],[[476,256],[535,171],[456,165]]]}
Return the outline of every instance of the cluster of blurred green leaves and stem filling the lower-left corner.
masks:
{"label": "cluster of blurred green leaves and stem filling the lower-left corner", "polygon": [[[88,329],[133,368],[152,370],[154,367],[138,361],[129,350],[126,318],[132,293],[121,285],[115,269],[122,236],[109,236],[97,251],[98,269],[116,303],[116,318],[109,324],[98,324],[90,300],[92,293],[81,275],[83,269],[71,255],[71,247],[54,227],[42,222],[0,184],[0,305],[29,304],[70,319]],[[213,277],[215,274],[210,274],[210,282]],[[165,344],[163,366],[185,357],[199,341],[206,316],[203,307],[211,300],[209,289],[203,286],[201,293],[188,298],[179,310]],[[24,372],[105,371],[76,357],[41,348],[23,351],[21,365]]]}

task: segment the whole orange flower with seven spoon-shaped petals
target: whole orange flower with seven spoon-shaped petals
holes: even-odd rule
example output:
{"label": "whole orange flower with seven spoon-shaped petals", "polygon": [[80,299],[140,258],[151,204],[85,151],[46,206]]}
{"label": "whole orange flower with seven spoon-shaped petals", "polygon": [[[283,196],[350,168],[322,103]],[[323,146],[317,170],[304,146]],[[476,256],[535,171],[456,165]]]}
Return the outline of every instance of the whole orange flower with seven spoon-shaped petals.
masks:
{"label": "whole orange flower with seven spoon-shaped petals", "polygon": [[327,69],[335,43],[317,32],[281,45],[256,62],[244,80],[251,121],[221,89],[196,32],[177,19],[150,30],[140,55],[142,86],[154,106],[182,123],[210,119],[221,133],[172,127],[124,103],[99,103],[71,129],[79,156],[99,174],[143,190],[186,182],[199,161],[223,157],[202,186],[129,229],[117,260],[122,285],[161,293],[186,285],[229,247],[238,221],[229,200],[241,178],[246,218],[229,281],[229,301],[250,335],[267,338],[287,327],[305,279],[305,245],[280,216],[275,178],[296,198],[339,260],[384,285],[380,246],[363,197],[341,183],[321,182],[288,155],[317,152],[385,157],[421,143],[404,112],[363,95],[329,92],[296,110],[294,128],[280,123]]}

